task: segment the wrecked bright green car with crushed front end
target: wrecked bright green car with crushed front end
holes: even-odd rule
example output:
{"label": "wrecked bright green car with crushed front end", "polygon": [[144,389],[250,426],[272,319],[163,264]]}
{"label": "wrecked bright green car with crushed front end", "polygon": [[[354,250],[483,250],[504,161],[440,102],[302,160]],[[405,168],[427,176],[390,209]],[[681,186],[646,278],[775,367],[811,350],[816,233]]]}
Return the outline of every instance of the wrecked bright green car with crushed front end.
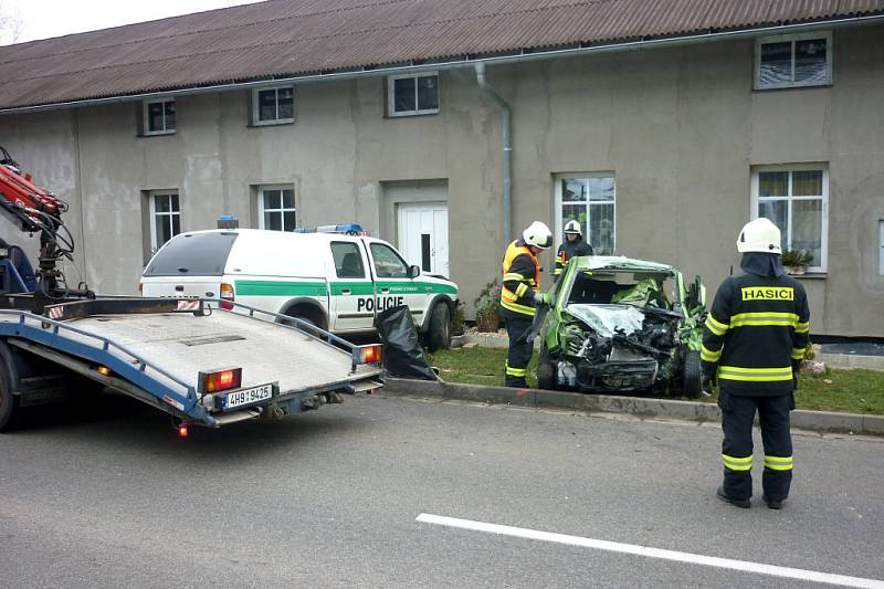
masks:
{"label": "wrecked bright green car with crushed front end", "polygon": [[537,383],[552,390],[702,395],[706,288],[672,266],[622,256],[568,262],[538,311]]}

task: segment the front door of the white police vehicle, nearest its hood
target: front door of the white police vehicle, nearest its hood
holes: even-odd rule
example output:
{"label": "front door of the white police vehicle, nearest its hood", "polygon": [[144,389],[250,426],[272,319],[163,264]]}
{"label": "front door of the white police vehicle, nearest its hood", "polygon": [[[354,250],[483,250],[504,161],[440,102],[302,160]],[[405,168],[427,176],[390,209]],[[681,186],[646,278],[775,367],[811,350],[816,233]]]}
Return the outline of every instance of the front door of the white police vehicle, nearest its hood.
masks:
{"label": "front door of the white police vehicle, nearest its hood", "polygon": [[429,285],[423,284],[420,277],[408,276],[408,264],[390,244],[370,241],[368,251],[371,254],[371,269],[375,272],[377,312],[408,305],[414,323],[422,325],[428,302],[432,296],[429,293]]}

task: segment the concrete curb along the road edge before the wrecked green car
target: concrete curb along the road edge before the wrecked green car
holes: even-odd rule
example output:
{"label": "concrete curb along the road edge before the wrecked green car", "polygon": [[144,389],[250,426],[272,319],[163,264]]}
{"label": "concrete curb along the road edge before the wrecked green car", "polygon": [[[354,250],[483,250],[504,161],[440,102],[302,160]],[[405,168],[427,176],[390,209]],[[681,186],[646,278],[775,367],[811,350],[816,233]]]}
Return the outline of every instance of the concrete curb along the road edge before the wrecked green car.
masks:
{"label": "concrete curb along the road edge before the wrecked green car", "polygon": [[[401,378],[388,378],[380,392],[397,397],[438,397],[443,400],[476,401],[491,404],[570,409],[586,413],[629,413],[641,418],[674,419],[701,423],[722,420],[722,413],[714,403],[672,399],[509,389]],[[817,432],[884,437],[884,417],[796,410],[792,411],[792,428]]]}

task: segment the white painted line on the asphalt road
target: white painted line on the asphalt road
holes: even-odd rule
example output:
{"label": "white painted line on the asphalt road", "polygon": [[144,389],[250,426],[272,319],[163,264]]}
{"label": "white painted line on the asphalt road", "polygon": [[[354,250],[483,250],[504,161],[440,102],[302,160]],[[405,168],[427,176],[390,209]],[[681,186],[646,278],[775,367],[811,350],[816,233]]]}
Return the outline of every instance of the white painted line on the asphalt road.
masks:
{"label": "white painted line on the asphalt road", "polygon": [[830,585],[840,585],[842,587],[884,589],[884,581],[877,579],[863,579],[861,577],[832,575],[829,572],[818,572],[815,570],[777,567],[774,565],[764,565],[761,562],[749,562],[746,560],[734,560],[730,558],[718,558],[715,556],[694,555],[691,553],[680,553],[677,550],[650,548],[648,546],[639,546],[635,544],[621,544],[619,541],[597,540],[593,538],[568,536],[566,534],[554,534],[551,532],[540,532],[537,529],[527,529],[523,527],[486,524],[484,522],[445,517],[443,515],[421,514],[417,517],[417,520],[424,524],[472,529],[475,532],[487,532],[488,534],[502,534],[504,536],[515,536],[517,538],[528,538],[540,541],[554,541],[558,544],[568,544],[571,546],[582,546],[585,548],[596,548],[597,550],[645,556],[649,558],[662,558],[664,560],[675,560],[677,562],[726,568],[743,572],[757,572],[759,575],[770,575],[772,577],[785,577],[788,579],[799,579],[802,581],[825,582]]}

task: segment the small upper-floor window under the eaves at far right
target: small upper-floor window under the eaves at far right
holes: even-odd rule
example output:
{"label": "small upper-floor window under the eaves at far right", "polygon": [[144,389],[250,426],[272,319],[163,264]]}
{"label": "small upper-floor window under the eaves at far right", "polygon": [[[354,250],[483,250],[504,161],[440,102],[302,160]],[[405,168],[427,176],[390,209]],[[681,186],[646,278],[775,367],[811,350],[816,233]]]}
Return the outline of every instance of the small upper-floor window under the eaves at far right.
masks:
{"label": "small upper-floor window under the eaves at far right", "polygon": [[755,88],[791,88],[832,83],[832,33],[759,39],[755,46]]}

